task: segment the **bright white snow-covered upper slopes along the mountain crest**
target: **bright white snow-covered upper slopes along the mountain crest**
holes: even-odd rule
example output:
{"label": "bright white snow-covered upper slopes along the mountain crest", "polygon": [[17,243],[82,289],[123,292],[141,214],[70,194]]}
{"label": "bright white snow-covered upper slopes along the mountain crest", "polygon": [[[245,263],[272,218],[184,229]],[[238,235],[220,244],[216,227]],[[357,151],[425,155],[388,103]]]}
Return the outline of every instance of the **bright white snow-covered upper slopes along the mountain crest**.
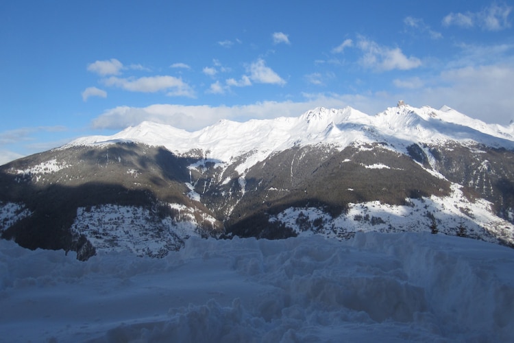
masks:
{"label": "bright white snow-covered upper slopes along the mountain crest", "polygon": [[160,145],[179,154],[200,149],[205,153],[204,158],[224,163],[253,152],[252,158],[245,163],[247,168],[273,152],[319,143],[334,145],[341,150],[352,143],[390,143],[391,148],[400,152],[412,143],[441,141],[514,148],[514,126],[487,124],[448,106],[436,110],[428,106],[414,108],[399,104],[377,115],[346,107],[341,110],[315,108],[299,117],[254,119],[244,123],[221,120],[195,132],[144,121],[112,136],[83,137],[64,147],[120,141]]}

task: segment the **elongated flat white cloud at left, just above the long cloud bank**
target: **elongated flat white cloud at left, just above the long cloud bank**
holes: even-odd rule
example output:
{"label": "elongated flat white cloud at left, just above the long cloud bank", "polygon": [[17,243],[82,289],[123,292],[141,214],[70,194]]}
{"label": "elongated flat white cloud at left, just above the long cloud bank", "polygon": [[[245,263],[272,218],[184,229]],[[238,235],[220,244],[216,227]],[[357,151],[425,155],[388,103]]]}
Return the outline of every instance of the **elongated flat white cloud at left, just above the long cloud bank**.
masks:
{"label": "elongated flat white cloud at left, just above the long cloud bank", "polygon": [[111,76],[103,80],[107,86],[116,86],[131,92],[155,93],[169,91],[167,95],[194,97],[191,87],[182,79],[169,75],[157,75],[144,78],[118,78]]}

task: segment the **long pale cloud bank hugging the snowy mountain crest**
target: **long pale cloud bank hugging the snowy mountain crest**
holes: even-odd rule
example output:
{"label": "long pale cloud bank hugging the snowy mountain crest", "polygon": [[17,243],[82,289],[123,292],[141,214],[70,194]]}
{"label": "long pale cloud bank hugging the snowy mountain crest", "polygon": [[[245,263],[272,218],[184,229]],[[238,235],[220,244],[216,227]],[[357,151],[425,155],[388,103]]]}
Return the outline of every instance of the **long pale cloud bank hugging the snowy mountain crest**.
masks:
{"label": "long pale cloud bank hugging the snowy mountain crest", "polygon": [[[417,77],[395,80],[393,82],[397,86],[402,86],[397,93],[385,91],[363,91],[360,94],[305,93],[302,101],[258,102],[245,106],[173,104],[151,105],[145,108],[123,106],[106,110],[93,121],[93,126],[122,129],[137,125],[143,120],[150,120],[185,130],[199,130],[212,125],[219,119],[245,121],[278,116],[297,117],[317,106],[328,108],[352,106],[364,113],[374,115],[389,106],[395,106],[398,99],[404,99],[413,106],[428,105],[438,108],[447,104],[471,117],[506,124],[513,119],[511,110],[514,108],[514,98],[511,96],[513,79],[513,66],[465,67],[445,71],[432,80],[420,80]],[[219,87],[223,88],[223,85],[219,84]]]}

